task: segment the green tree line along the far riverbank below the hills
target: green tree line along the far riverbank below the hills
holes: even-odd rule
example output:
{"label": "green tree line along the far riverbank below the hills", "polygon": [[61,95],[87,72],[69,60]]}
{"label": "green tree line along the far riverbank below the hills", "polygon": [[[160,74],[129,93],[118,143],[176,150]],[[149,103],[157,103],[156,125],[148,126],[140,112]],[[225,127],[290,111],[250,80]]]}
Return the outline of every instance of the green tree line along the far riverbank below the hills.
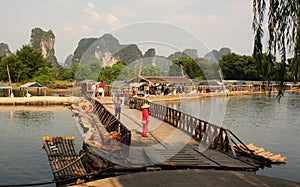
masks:
{"label": "green tree line along the far riverbank below the hills", "polygon": [[[253,56],[229,53],[222,56],[219,62],[208,62],[203,58],[193,59],[187,55],[173,59],[169,70],[160,71],[152,64],[130,67],[120,61],[112,67],[101,67],[99,61],[92,60],[87,64],[75,63],[71,69],[63,66],[52,68],[41,52],[36,51],[29,45],[23,46],[15,54],[3,56],[0,59],[0,80],[9,81],[7,65],[10,78],[13,83],[36,81],[44,85],[55,83],[56,80],[103,80],[111,83],[115,80],[129,80],[137,75],[142,76],[180,76],[185,75],[191,79],[206,80],[220,79],[222,72],[224,79],[229,80],[258,80],[278,81],[281,63],[268,63],[269,55],[262,54],[260,62]],[[275,61],[275,57],[272,57]],[[289,59],[288,62],[293,62]],[[286,64],[284,81],[293,81],[294,64]]]}

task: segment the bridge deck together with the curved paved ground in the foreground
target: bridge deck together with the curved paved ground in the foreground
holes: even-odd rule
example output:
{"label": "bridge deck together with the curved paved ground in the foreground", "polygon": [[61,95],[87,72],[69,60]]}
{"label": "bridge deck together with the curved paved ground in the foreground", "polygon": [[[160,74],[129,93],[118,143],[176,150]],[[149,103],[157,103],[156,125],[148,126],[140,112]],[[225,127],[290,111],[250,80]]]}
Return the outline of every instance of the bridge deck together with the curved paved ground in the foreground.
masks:
{"label": "bridge deck together with the curved paved ground in the foreground", "polygon": [[[101,102],[106,103],[105,107],[114,113],[109,99],[102,99]],[[257,166],[220,151],[210,148],[199,151],[199,143],[186,133],[153,117],[150,117],[149,136],[143,138],[139,110],[122,106],[120,120],[132,133],[126,163],[131,166],[144,165],[148,172],[127,171],[120,176],[83,182],[77,186],[300,186],[296,182],[246,172],[256,171]],[[182,145],[183,148],[178,149]]]}

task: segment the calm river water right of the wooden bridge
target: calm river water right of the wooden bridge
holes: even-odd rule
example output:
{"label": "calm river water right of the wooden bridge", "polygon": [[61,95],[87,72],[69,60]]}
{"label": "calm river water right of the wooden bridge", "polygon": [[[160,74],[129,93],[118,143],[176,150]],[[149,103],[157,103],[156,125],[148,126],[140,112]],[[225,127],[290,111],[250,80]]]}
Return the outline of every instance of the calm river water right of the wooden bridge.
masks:
{"label": "calm river water right of the wooden bridge", "polygon": [[181,101],[169,106],[215,124],[222,121],[222,127],[244,143],[286,156],[285,165],[273,165],[257,174],[300,182],[299,94],[286,93],[280,103],[276,95],[247,95]]}

